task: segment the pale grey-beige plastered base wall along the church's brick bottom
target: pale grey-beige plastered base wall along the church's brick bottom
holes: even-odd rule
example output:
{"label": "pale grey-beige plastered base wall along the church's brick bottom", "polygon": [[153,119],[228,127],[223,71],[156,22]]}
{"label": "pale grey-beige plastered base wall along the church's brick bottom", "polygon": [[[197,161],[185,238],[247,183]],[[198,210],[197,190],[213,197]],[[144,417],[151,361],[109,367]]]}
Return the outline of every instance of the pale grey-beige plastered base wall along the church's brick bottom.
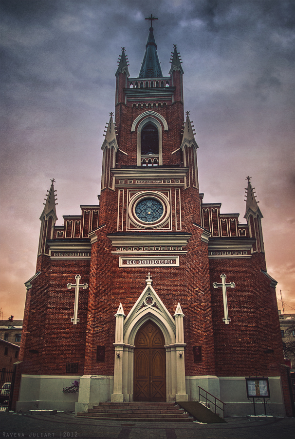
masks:
{"label": "pale grey-beige plastered base wall along the church's brick bottom", "polygon": [[[80,381],[79,392],[63,393],[62,389],[70,387],[75,380]],[[200,386],[226,404],[225,416],[254,415],[253,399],[247,398],[245,377],[204,375],[185,377],[185,382],[189,401],[199,400],[198,386]],[[266,414],[285,417],[280,377],[269,377],[269,387],[271,398],[266,400]],[[86,412],[99,402],[111,401],[112,393],[113,376],[22,375],[16,410]],[[205,398],[201,396],[200,399]],[[217,412],[222,415],[221,411],[217,410]],[[263,400],[256,400],[256,414],[264,415]]]}

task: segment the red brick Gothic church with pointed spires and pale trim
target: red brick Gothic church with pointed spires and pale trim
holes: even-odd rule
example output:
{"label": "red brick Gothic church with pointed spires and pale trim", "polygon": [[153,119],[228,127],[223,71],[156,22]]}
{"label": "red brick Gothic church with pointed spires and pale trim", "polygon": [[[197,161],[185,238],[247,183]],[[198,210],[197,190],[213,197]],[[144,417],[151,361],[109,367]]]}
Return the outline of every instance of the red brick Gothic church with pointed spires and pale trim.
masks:
{"label": "red brick Gothic church with pointed spires and pale trim", "polygon": [[[198,400],[200,386],[228,415],[253,414],[252,376],[268,379],[268,414],[285,416],[277,282],[250,179],[244,223],[205,202],[179,53],[164,77],[156,48],[150,27],[138,78],[122,50],[99,205],[56,225],[52,180],[25,284],[17,410]],[[63,392],[74,380],[79,391]]]}

